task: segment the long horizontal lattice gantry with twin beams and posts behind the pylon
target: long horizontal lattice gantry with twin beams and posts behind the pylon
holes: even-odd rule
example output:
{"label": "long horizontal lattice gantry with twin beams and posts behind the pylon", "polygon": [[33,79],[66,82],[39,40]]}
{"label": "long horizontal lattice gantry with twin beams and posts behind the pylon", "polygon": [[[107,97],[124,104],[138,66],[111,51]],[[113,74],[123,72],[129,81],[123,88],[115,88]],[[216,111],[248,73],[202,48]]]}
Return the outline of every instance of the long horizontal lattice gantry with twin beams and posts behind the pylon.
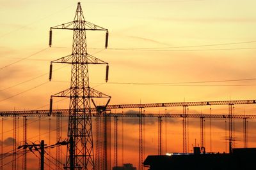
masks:
{"label": "long horizontal lattice gantry with twin beams and posts behind the pylon", "polygon": [[[106,140],[106,136],[101,137],[104,132],[106,132],[107,125],[106,121],[107,118],[114,118],[114,137],[115,137],[115,143],[114,143],[114,165],[118,164],[118,118],[124,118],[124,117],[133,117],[138,118],[139,123],[139,162],[138,162],[138,169],[143,169],[143,153],[145,152],[143,149],[143,120],[144,118],[150,117],[150,118],[157,118],[158,119],[158,153],[162,154],[162,120],[163,118],[182,118],[182,124],[183,124],[183,152],[187,153],[186,147],[187,147],[187,141],[186,136],[188,135],[188,129],[186,126],[188,126],[188,118],[199,118],[200,119],[200,139],[201,139],[201,146],[204,146],[204,120],[205,118],[217,118],[217,119],[225,119],[228,120],[229,124],[229,136],[228,141],[230,141],[230,147],[232,147],[232,143],[234,141],[233,139],[233,119],[241,119],[244,122],[244,146],[246,146],[247,143],[247,120],[248,119],[255,119],[256,115],[244,115],[244,114],[236,114],[234,115],[234,105],[240,105],[240,104],[256,104],[256,100],[239,100],[239,101],[202,101],[202,102],[184,102],[184,103],[147,103],[147,104],[115,104],[115,105],[108,105],[108,106],[97,106],[95,108],[91,109],[91,117],[95,117],[96,122],[96,134],[97,139],[96,141],[99,141],[100,144],[98,144],[98,147],[96,149],[96,155],[97,157],[95,160],[97,160],[97,169],[109,169],[109,166],[107,166],[107,159],[108,159],[108,153],[107,153],[107,146],[109,145],[109,142]],[[225,105],[228,106],[228,114],[188,114],[189,106],[216,106],[216,105]],[[168,107],[182,107],[183,113],[143,113],[143,110],[145,108],[168,108]],[[138,109],[137,112],[134,113],[112,113],[113,110],[125,110],[125,109],[131,109],[136,108]],[[184,108],[185,111],[184,111]],[[108,113],[105,114],[99,114],[99,110],[107,110]],[[79,110],[80,111],[80,110]],[[1,117],[69,117],[70,110],[69,109],[63,109],[63,110],[28,110],[28,111],[0,111]],[[102,119],[100,119],[102,118]],[[57,119],[58,120],[58,119]],[[57,126],[58,127],[58,126]],[[108,126],[109,127],[109,126]],[[185,129],[186,128],[186,129]],[[57,128],[58,129],[58,128]],[[60,128],[59,128],[60,129]],[[100,131],[100,129],[103,129]],[[186,131],[186,132],[185,132]],[[105,146],[102,146],[105,145]],[[109,162],[108,162],[109,163]]]}

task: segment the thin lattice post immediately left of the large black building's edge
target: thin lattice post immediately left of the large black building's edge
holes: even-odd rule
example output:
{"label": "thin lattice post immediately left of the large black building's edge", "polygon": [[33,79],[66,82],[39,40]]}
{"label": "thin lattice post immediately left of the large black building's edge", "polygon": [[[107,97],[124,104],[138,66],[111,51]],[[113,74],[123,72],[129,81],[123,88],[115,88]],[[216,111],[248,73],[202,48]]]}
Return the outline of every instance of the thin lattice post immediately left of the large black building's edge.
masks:
{"label": "thin lattice post immediately left of the large black building's edge", "polygon": [[142,109],[139,108],[139,165],[138,169],[142,170],[143,169],[143,126],[142,126]]}

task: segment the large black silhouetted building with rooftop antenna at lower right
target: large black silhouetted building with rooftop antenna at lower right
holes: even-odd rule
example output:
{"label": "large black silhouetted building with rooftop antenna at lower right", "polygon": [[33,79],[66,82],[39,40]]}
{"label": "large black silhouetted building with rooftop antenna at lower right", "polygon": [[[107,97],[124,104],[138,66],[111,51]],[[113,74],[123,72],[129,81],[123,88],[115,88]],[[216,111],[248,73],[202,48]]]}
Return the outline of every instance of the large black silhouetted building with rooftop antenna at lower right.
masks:
{"label": "large black silhouetted building with rooftop antenna at lower right", "polygon": [[232,153],[173,153],[149,155],[143,162],[149,170],[253,170],[256,148],[234,148]]}

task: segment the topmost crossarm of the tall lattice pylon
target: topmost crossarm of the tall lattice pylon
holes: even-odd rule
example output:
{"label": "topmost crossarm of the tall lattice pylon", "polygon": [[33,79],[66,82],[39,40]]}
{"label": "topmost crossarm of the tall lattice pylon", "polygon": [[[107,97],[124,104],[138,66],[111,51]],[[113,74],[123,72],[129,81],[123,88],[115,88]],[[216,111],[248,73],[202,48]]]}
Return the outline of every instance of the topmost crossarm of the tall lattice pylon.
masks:
{"label": "topmost crossarm of the tall lattice pylon", "polygon": [[[74,23],[79,22],[81,24],[85,24],[85,28],[74,28]],[[90,30],[90,31],[108,31],[108,29],[104,29],[103,27],[100,27],[99,25],[92,24],[91,22],[82,20],[74,20],[72,22],[67,22],[65,24],[56,25],[54,27],[51,27],[51,29],[68,29],[68,30]]]}

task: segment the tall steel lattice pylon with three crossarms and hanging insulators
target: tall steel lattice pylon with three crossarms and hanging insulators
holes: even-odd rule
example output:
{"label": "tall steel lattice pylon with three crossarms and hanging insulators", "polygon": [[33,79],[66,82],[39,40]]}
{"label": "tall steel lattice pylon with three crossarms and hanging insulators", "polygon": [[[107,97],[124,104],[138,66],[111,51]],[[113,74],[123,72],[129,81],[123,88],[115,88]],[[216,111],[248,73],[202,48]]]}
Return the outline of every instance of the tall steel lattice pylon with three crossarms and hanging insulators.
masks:
{"label": "tall steel lattice pylon with three crossarms and hanging insulators", "polygon": [[[72,54],[61,59],[54,60],[50,65],[50,76],[52,78],[52,63],[71,64],[70,88],[51,96],[50,110],[52,109],[52,97],[69,97],[68,117],[68,141],[67,159],[65,169],[95,169],[93,155],[93,133],[91,102],[97,110],[106,110],[106,107],[98,108],[93,102],[93,97],[107,96],[89,85],[88,64],[106,64],[106,81],[108,81],[108,63],[87,53],[86,30],[107,31],[106,48],[108,46],[108,29],[99,27],[84,20],[81,4],[77,4],[74,21],[51,27],[49,45],[52,44],[52,29],[68,29],[73,31]],[[50,111],[51,113],[51,111]]]}

